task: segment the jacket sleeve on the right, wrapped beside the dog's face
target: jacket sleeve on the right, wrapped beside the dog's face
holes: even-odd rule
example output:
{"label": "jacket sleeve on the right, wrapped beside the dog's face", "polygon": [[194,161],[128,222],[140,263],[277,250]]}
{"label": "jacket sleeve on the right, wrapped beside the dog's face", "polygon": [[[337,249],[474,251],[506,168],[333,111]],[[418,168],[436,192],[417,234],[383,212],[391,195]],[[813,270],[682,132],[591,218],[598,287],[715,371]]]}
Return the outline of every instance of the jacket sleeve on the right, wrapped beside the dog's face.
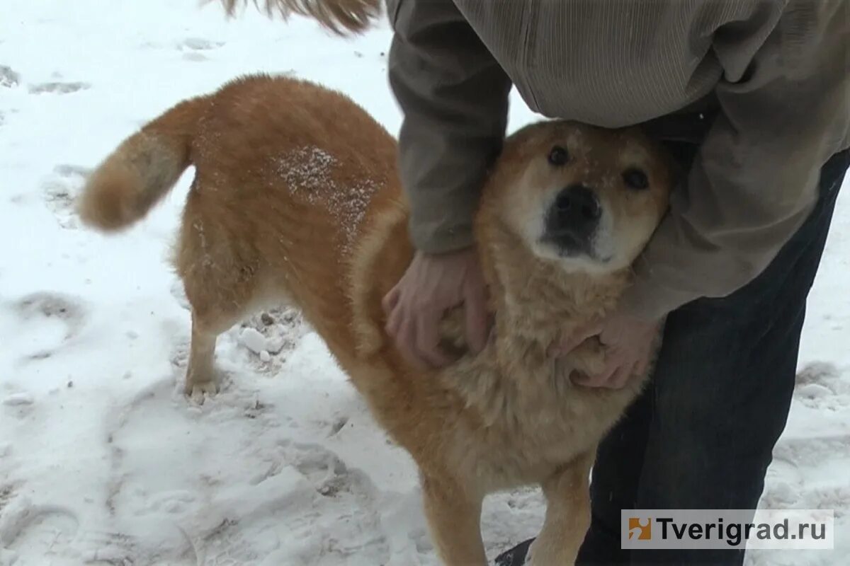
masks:
{"label": "jacket sleeve on the right, wrapped beside the dog's face", "polygon": [[820,168],[850,120],[850,20],[843,0],[798,4],[802,12],[785,14],[763,40],[741,23],[716,34],[720,113],[636,263],[623,310],[655,319],[733,293],[813,209]]}

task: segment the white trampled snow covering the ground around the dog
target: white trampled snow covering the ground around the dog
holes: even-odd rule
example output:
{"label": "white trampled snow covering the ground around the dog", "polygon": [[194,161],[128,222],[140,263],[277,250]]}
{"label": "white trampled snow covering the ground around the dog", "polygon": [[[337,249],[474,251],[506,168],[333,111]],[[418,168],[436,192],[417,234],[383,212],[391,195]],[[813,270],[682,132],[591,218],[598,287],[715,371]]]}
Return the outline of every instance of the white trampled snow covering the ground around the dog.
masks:
{"label": "white trampled snow covering the ground around the dog", "polygon": [[[167,248],[188,177],[120,237],[71,212],[123,137],[249,71],[337,87],[395,132],[388,40],[251,12],[227,21],[193,0],[3,0],[0,566],[436,563],[409,457],[292,313],[220,339],[227,377],[212,401],[175,389],[189,315]],[[512,126],[532,119],[512,112]],[[828,247],[763,504],[836,509],[837,548],[751,563],[850,563],[848,190]],[[490,498],[490,555],[536,533],[542,511],[534,490]]]}

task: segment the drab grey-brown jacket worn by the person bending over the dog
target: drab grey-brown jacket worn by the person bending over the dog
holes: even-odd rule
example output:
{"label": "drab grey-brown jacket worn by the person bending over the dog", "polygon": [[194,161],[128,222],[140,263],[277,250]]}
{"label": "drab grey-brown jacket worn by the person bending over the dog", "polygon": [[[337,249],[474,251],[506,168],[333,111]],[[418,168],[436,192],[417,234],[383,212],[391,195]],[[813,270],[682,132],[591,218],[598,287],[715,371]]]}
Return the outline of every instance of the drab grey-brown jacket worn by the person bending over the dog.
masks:
{"label": "drab grey-brown jacket worn by the person bending over the dog", "polygon": [[850,146],[850,0],[388,0],[388,14],[426,252],[471,243],[512,85],[542,115],[598,126],[716,116],[638,261],[626,307],[643,317],[756,277]]}

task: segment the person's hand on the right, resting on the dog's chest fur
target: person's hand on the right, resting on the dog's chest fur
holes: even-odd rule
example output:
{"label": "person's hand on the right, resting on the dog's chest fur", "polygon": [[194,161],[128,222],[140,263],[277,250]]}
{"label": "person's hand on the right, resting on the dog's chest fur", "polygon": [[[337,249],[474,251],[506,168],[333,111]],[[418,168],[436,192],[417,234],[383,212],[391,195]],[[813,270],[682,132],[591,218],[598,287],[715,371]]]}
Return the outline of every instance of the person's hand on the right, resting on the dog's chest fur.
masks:
{"label": "person's hand on the right, resting on the dog's chest fur", "polygon": [[633,375],[649,370],[655,337],[660,321],[644,321],[624,313],[613,312],[601,320],[588,322],[564,336],[549,351],[551,356],[565,356],[583,341],[598,336],[605,348],[605,366],[600,373],[573,378],[575,384],[587,387],[621,389]]}

